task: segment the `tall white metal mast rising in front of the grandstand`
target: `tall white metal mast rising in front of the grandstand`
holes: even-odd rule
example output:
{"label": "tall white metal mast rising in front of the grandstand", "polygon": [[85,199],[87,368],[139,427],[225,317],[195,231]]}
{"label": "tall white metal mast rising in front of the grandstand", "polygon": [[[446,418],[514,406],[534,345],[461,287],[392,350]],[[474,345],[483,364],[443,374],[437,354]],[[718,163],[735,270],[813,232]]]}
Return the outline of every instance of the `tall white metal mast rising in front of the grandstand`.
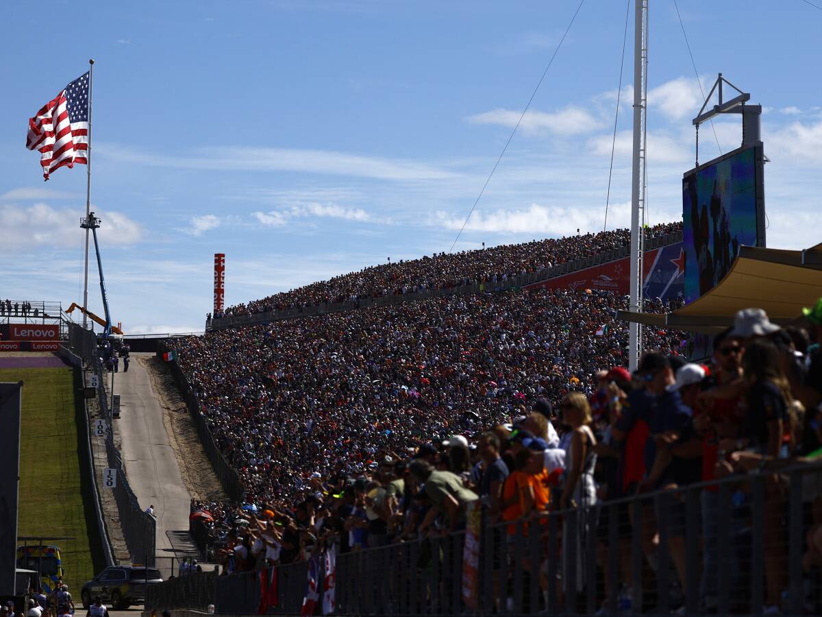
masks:
{"label": "tall white metal mast rising in front of the grandstand", "polygon": [[[642,256],[645,220],[645,130],[648,92],[648,2],[635,0],[634,16],[634,157],[630,184],[630,301],[642,312]],[[642,327],[630,322],[628,367],[635,371],[642,353]]]}

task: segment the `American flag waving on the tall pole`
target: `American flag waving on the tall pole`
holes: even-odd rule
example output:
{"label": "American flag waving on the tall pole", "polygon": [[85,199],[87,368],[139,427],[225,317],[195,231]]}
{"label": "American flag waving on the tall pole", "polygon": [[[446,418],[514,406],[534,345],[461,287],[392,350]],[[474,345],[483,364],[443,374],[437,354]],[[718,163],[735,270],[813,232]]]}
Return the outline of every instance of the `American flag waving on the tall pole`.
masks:
{"label": "American flag waving on the tall pole", "polygon": [[25,147],[40,152],[43,177],[75,163],[88,164],[89,73],[85,72],[29,119]]}

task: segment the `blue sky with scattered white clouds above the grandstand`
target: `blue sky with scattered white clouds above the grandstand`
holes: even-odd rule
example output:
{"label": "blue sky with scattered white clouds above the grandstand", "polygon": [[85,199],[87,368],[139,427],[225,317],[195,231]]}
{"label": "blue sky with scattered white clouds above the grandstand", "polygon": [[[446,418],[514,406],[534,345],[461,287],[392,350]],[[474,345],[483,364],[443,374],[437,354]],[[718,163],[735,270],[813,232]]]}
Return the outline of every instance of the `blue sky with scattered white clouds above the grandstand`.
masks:
{"label": "blue sky with scattered white clouds above the grandstand", "polygon": [[[577,4],[3,3],[0,295],[81,300],[85,167],[44,183],[25,128],[88,58],[113,319],[184,332],[210,311],[215,252],[236,304],[448,250]],[[769,246],[822,241],[822,10],[679,6],[704,85],[722,71],[764,106]],[[458,249],[602,230],[625,14],[584,2]],[[629,30],[608,228],[629,221],[630,46]],[[672,2],[652,2],[650,47],[656,223],[681,218],[702,101]],[[738,146],[738,117],[715,128],[723,151]],[[706,128],[700,160],[715,155]]]}

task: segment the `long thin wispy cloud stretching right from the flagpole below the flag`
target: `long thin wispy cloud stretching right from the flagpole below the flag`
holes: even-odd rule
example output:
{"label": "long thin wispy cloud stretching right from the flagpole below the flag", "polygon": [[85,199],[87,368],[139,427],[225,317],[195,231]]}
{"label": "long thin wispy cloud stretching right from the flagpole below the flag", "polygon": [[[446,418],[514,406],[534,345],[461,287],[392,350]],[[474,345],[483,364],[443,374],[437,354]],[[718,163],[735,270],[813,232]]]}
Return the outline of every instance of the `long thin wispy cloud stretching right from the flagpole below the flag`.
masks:
{"label": "long thin wispy cloud stretching right from the flagpole below the flag", "polygon": [[[180,155],[155,155],[112,143],[95,144],[95,150],[99,156],[116,159],[121,164],[125,162],[179,169],[297,171],[395,181],[441,180],[456,176],[447,169],[439,169],[415,160],[326,150],[213,146]],[[215,155],[215,152],[220,154]]]}

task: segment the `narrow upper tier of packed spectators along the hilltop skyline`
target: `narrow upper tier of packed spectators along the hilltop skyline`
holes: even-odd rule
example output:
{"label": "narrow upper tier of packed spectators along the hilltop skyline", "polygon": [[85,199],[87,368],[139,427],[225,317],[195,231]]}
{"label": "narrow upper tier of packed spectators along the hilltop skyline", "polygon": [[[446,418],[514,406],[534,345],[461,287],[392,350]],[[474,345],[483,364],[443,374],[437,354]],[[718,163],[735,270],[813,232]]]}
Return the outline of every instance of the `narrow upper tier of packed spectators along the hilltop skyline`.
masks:
{"label": "narrow upper tier of packed spectators along the hilltop skyline", "polygon": [[[645,230],[645,238],[654,239],[680,232],[681,229],[681,223],[655,225]],[[438,253],[432,257],[382,264],[335,276],[328,281],[319,281],[296,290],[226,308],[223,313],[215,313],[214,317],[264,313],[363,297],[399,295],[418,290],[469,285],[473,282],[502,281],[510,276],[543,270],[628,244],[629,230],[613,230],[567,238],[533,240],[524,244],[503,244],[483,250]]]}

